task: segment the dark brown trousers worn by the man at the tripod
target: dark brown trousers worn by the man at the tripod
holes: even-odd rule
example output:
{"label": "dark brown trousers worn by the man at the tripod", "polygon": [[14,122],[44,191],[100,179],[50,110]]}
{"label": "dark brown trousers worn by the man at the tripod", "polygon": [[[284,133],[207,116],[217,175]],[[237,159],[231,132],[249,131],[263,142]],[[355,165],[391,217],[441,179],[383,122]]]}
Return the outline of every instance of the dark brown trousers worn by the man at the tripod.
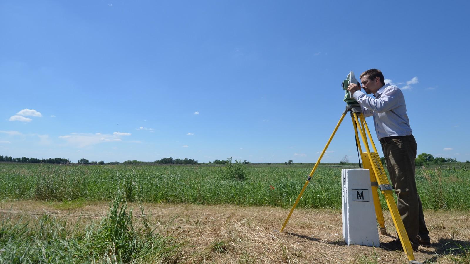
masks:
{"label": "dark brown trousers worn by the man at the tripod", "polygon": [[415,182],[416,141],[413,135],[385,140],[382,143],[391,184],[398,196],[397,207],[412,244],[429,239],[423,207]]}

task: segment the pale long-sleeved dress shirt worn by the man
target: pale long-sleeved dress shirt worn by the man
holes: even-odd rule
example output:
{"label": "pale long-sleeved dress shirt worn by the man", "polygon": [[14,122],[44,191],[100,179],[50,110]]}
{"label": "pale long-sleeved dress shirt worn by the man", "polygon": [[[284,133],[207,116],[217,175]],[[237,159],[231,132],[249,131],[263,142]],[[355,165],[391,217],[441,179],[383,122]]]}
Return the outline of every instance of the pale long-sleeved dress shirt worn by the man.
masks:
{"label": "pale long-sleeved dress shirt worn by the man", "polygon": [[374,116],[379,140],[384,137],[411,135],[405,97],[401,90],[395,85],[386,84],[374,96],[375,99],[362,91],[352,94],[360,103],[364,116]]}

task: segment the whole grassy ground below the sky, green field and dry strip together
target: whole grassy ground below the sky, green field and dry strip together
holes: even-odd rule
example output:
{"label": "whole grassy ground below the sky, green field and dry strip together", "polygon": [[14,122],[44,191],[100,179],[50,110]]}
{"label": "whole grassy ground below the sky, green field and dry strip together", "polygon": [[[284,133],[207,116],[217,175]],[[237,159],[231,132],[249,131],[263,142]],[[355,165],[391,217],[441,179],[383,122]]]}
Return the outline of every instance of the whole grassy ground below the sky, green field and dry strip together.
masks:
{"label": "whole grassy ground below the sky, green field and dry strip together", "polygon": [[[437,247],[418,259],[470,263],[464,165],[417,169]],[[312,167],[0,163],[0,263],[405,263],[342,241],[341,169],[357,164],[321,164],[288,225],[296,233],[273,233]]]}

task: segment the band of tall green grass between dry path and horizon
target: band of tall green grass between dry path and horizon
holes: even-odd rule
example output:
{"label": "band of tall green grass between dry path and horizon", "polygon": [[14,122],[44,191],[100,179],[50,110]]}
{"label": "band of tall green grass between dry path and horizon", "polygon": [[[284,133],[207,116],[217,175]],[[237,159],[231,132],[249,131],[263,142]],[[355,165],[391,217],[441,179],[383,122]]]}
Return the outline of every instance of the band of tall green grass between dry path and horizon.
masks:
{"label": "band of tall green grass between dry path and horizon", "polygon": [[[417,168],[416,182],[424,209],[470,210],[470,171],[459,169],[459,163],[450,166]],[[130,202],[291,207],[312,167],[0,163],[0,199],[109,201],[121,187]],[[343,168],[357,168],[357,164],[321,164],[298,207],[340,209]],[[228,177],[236,175],[235,169],[242,170],[243,177]],[[79,206],[79,202],[67,206]],[[386,208],[383,199],[382,206]]]}

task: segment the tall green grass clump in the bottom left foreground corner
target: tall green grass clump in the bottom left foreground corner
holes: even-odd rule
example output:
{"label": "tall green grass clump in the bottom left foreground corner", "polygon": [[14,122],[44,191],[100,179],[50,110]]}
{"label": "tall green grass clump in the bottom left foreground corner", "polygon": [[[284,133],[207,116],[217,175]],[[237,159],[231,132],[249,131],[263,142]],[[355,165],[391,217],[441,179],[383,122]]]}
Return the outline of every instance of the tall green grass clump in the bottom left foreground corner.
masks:
{"label": "tall green grass clump in the bottom left foreground corner", "polygon": [[65,220],[48,215],[1,217],[0,263],[159,263],[172,260],[179,247],[150,229],[146,217],[137,227],[121,190],[108,215],[86,230],[78,224],[68,228]]}

